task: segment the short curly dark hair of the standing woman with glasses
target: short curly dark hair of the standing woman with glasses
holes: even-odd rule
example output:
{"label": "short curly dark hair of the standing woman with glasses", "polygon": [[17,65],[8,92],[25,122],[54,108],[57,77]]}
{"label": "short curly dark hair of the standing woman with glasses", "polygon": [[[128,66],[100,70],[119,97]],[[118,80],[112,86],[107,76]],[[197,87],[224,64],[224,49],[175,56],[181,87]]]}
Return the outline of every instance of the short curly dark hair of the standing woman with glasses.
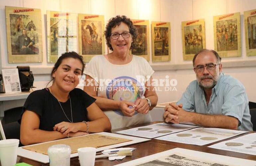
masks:
{"label": "short curly dark hair of the standing woman with glasses", "polygon": [[[132,35],[133,41],[135,41],[136,37],[137,37],[137,28],[133,25],[132,21],[129,18],[127,18],[126,16],[118,15],[116,17],[109,19],[108,24],[106,26],[106,30],[104,31],[104,35],[105,35],[105,38],[107,41],[107,46],[112,51],[113,51],[113,48],[110,43],[111,29],[115,28],[116,26],[119,26],[121,24],[121,22],[125,23],[129,27],[129,31]],[[132,42],[130,49],[132,48],[132,46],[133,46],[133,42]]]}

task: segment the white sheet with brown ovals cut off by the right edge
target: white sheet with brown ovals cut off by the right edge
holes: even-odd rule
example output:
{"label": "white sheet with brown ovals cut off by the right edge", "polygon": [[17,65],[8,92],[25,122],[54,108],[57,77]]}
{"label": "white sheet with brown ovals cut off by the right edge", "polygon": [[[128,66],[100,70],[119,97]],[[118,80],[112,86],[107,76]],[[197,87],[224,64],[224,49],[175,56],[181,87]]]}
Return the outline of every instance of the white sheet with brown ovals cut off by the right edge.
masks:
{"label": "white sheet with brown ovals cut off by the right edge", "polygon": [[240,136],[238,138],[219,142],[208,147],[256,155],[256,133],[251,133]]}

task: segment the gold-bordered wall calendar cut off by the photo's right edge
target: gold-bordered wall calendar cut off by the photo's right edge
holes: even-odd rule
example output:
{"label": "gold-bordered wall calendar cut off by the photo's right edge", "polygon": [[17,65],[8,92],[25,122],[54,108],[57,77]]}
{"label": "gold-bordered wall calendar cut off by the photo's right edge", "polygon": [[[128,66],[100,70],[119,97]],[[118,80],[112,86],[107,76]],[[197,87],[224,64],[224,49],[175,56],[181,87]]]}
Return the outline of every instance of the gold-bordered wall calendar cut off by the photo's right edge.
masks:
{"label": "gold-bordered wall calendar cut off by the photo's right edge", "polygon": [[256,9],[244,12],[246,55],[256,55]]}

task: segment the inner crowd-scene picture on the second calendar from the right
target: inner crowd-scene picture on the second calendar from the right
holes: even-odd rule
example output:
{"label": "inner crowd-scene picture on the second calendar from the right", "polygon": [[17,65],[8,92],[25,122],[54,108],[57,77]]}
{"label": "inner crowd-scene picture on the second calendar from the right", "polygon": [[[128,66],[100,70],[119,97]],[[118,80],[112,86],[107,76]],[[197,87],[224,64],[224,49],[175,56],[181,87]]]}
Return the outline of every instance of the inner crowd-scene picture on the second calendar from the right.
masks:
{"label": "inner crowd-scene picture on the second calendar from the right", "polygon": [[216,21],[217,51],[238,49],[237,19]]}

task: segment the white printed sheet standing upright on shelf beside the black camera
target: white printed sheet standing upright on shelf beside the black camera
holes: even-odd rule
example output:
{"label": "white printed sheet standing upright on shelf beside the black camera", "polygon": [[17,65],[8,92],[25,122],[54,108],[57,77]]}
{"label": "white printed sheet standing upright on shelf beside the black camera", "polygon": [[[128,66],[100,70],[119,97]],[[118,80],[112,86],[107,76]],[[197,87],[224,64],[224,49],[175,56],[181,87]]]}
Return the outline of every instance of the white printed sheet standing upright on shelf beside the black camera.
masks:
{"label": "white printed sheet standing upright on shelf beside the black camera", "polygon": [[5,93],[21,92],[18,69],[2,69]]}

